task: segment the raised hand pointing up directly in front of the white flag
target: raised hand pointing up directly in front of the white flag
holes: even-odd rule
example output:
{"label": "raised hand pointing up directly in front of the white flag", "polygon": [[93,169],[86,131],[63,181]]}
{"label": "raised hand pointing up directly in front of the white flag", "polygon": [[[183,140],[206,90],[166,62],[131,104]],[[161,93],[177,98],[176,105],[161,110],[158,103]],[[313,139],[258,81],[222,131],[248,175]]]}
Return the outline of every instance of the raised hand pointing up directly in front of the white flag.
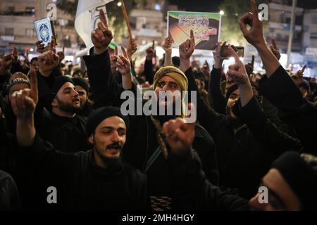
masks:
{"label": "raised hand pointing up directly in front of the white flag", "polygon": [[100,22],[98,23],[98,28],[92,31],[92,43],[94,44],[94,53],[101,54],[108,48],[108,45],[113,39],[113,34],[108,27],[106,20],[106,15],[101,9],[99,11]]}

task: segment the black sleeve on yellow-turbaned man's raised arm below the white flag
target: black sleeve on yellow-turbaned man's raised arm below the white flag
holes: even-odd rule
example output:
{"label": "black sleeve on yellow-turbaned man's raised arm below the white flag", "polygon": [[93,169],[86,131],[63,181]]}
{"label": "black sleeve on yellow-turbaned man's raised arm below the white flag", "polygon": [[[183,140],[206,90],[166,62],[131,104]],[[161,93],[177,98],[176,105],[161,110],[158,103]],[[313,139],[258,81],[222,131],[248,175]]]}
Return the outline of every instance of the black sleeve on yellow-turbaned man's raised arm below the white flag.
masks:
{"label": "black sleeve on yellow-turbaned man's raised arm below the white flag", "polygon": [[120,107],[120,95],[124,91],[111,74],[108,50],[99,55],[84,56],[90,88],[96,99],[96,107],[113,105]]}

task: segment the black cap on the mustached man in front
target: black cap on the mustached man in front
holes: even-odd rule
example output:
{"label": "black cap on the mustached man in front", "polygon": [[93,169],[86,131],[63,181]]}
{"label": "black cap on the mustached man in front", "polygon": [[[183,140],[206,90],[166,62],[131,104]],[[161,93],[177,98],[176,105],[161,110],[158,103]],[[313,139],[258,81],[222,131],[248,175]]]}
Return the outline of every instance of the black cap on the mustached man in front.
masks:
{"label": "black cap on the mustached man in front", "polygon": [[107,107],[97,108],[97,110],[94,110],[92,111],[92,113],[89,114],[87,119],[87,124],[86,124],[87,135],[88,136],[92,135],[96,127],[98,127],[98,125],[102,121],[106,120],[106,118],[108,117],[113,117],[113,116],[117,116],[123,119],[123,121],[125,122],[125,126],[128,129],[129,117],[122,115],[120,112],[120,108],[107,106]]}

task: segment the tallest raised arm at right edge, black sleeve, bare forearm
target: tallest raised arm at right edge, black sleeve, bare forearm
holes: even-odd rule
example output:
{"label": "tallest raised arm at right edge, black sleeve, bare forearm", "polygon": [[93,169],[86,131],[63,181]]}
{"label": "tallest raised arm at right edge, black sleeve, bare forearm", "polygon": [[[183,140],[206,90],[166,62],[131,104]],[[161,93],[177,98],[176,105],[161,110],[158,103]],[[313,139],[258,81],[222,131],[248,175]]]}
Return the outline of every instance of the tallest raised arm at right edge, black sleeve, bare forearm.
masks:
{"label": "tallest raised arm at right edge, black sleeve, bare forearm", "polygon": [[[251,3],[252,13],[257,13],[256,3]],[[304,151],[316,155],[317,106],[302,97],[298,86],[268,48],[263,36],[262,22],[254,15],[250,12],[244,14],[240,18],[240,27],[244,38],[259,52],[266,70],[266,76],[260,80],[259,90],[283,113],[282,121],[294,127]],[[247,30],[247,25],[251,25],[250,30]]]}

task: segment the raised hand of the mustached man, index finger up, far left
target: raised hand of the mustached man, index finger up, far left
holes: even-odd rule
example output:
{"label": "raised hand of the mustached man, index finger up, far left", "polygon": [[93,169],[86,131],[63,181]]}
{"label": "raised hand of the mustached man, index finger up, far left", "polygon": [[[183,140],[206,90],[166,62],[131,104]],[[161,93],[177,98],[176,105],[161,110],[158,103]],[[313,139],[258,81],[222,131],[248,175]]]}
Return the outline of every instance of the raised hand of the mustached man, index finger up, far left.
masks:
{"label": "raised hand of the mustached man, index finger up, far left", "polygon": [[30,72],[31,89],[13,92],[11,106],[18,120],[32,117],[38,101],[37,75],[35,70]]}

